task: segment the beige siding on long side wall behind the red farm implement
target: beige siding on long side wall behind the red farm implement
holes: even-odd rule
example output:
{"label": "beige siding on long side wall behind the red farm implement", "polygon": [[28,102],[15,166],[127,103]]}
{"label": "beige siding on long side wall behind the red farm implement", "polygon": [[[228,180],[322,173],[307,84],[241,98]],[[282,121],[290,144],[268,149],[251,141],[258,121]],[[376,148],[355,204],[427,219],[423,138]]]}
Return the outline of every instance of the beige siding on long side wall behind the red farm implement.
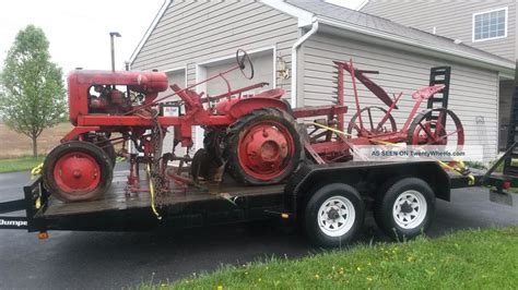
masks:
{"label": "beige siding on long side wall behind the red farm implement", "polygon": [[[415,89],[427,86],[429,69],[437,65],[451,67],[449,108],[462,120],[466,130],[466,143],[484,146],[485,160],[493,159],[497,149],[498,129],[498,75],[496,72],[447,63],[408,52],[372,46],[368,44],[338,38],[331,35],[317,34],[304,45],[304,74],[301,82],[304,88],[302,105],[325,105],[335,100],[335,69],[332,60],[349,61],[353,59],[356,68],[376,70],[379,74],[368,76],[384,87],[389,95],[403,93],[399,110],[393,117],[400,129],[413,106],[411,94]],[[372,95],[361,83],[358,92],[362,107],[386,107]],[[345,105],[349,121],[356,112],[352,83],[345,74]],[[423,102],[421,109],[425,109]],[[476,120],[484,121],[478,125]]]}

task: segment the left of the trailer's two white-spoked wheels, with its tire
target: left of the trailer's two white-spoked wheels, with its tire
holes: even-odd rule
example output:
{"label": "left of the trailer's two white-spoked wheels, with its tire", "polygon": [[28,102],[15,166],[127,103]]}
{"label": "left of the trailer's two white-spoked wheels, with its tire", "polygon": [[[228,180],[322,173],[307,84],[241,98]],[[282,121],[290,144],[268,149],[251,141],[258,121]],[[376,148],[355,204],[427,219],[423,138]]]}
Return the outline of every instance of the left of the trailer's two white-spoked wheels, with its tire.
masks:
{"label": "left of the trailer's two white-spoked wheels, with its tire", "polygon": [[362,229],[365,205],[354,188],[332,183],[311,196],[304,218],[305,232],[316,245],[342,246],[351,242]]}

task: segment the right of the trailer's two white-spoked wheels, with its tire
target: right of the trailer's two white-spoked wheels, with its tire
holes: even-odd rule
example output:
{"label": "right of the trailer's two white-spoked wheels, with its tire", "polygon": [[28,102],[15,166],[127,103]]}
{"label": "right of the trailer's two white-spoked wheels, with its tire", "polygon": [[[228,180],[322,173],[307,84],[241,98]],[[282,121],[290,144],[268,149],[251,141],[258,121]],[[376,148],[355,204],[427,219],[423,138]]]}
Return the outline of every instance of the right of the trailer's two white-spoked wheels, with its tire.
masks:
{"label": "right of the trailer's two white-spoked wheels, with its tire", "polygon": [[417,178],[404,178],[382,186],[375,203],[374,217],[386,234],[402,241],[426,231],[434,213],[435,194],[428,183]]}

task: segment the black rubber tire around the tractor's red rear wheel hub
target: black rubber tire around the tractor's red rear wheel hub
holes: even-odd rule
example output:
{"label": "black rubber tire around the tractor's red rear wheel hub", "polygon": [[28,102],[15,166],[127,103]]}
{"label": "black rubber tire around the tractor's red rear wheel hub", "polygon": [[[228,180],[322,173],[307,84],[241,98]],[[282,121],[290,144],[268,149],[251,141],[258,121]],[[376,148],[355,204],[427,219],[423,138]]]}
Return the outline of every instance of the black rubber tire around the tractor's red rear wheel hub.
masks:
{"label": "black rubber tire around the tractor's red rear wheel hub", "polygon": [[[248,176],[240,167],[237,154],[239,133],[246,130],[248,126],[263,120],[273,120],[283,124],[290,134],[292,134],[294,142],[294,156],[290,158],[290,164],[286,166],[284,173],[270,180],[260,180]],[[301,162],[301,156],[303,155],[302,141],[296,126],[296,121],[291,114],[276,108],[258,109],[242,117],[228,128],[225,136],[225,149],[223,157],[227,160],[227,171],[239,183],[252,185],[281,183],[283,180],[289,178],[292,172],[295,171],[295,169],[297,169],[298,164]]]}

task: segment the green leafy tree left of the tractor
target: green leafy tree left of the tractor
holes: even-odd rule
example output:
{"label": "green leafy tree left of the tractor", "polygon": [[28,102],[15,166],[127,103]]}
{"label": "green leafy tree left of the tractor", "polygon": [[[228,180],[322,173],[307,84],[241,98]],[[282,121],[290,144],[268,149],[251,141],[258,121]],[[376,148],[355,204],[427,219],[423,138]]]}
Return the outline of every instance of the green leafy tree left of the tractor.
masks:
{"label": "green leafy tree left of the tractor", "polygon": [[0,114],[15,132],[33,142],[61,122],[67,112],[63,73],[50,61],[49,43],[42,28],[28,25],[17,33],[0,73]]}

